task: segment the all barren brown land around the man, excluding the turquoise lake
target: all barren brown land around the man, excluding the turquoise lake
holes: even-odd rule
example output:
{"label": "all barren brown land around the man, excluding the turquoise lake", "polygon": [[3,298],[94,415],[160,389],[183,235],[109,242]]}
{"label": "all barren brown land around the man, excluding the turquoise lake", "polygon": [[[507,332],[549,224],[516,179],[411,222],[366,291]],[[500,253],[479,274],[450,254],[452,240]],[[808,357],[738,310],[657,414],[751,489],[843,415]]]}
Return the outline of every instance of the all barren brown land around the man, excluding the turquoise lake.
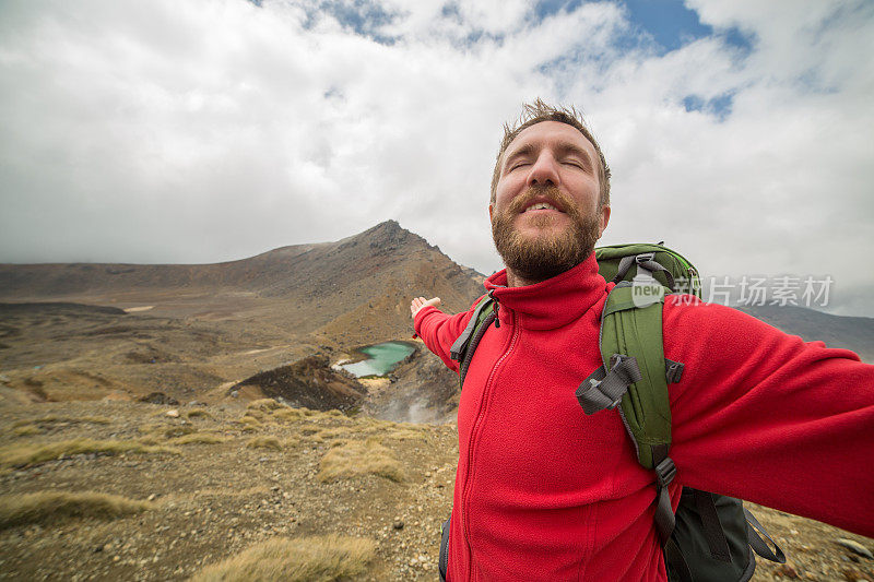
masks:
{"label": "all barren brown land around the man, excluding the turquoise lake", "polygon": [[[386,378],[331,365],[480,278],[397,223],[218,265],[0,265],[0,579],[435,580],[457,377],[417,341]],[[863,318],[779,317],[873,353]],[[874,582],[874,541],[755,512],[790,560],[755,580]]]}

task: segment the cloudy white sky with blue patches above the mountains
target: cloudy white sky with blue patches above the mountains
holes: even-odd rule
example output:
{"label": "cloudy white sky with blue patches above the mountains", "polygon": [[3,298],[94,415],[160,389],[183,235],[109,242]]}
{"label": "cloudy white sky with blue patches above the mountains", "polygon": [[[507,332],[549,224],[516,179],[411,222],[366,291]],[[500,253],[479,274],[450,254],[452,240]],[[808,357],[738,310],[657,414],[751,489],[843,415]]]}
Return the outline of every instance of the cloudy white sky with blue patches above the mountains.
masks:
{"label": "cloudy white sky with blue patches above the mountains", "polygon": [[0,3],[0,262],[216,262],[393,218],[500,269],[501,126],[572,104],[603,242],[874,316],[874,3]]}

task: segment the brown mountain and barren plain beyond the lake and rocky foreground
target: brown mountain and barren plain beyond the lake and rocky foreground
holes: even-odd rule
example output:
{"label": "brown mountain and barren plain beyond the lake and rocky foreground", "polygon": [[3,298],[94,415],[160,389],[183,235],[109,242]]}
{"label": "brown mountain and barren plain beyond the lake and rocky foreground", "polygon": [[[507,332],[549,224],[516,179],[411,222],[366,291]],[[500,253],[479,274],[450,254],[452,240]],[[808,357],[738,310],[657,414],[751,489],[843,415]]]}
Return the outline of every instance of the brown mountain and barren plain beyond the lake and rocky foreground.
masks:
{"label": "brown mountain and barren plain beyond the lake and rocky foreground", "polygon": [[227,263],[4,264],[0,393],[224,399],[243,379],[308,356],[332,364],[362,345],[409,338],[411,297],[466,309],[477,278],[391,221]]}

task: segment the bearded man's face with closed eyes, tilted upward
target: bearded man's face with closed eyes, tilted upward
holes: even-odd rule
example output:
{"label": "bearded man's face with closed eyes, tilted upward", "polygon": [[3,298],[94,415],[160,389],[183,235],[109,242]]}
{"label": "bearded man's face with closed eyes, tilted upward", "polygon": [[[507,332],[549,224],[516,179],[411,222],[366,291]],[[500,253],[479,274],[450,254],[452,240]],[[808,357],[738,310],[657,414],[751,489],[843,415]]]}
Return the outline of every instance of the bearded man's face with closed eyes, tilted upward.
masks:
{"label": "bearded man's face with closed eyes, tilted upward", "polygon": [[508,269],[544,281],[582,262],[610,219],[599,210],[598,153],[576,128],[542,121],[504,152],[492,234]]}

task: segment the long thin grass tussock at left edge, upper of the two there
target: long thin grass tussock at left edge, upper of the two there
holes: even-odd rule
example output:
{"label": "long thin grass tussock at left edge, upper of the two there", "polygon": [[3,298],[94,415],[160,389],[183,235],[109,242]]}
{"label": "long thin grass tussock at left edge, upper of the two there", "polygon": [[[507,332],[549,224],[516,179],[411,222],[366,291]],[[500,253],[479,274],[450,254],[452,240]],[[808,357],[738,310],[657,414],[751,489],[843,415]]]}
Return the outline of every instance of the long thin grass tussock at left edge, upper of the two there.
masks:
{"label": "long thin grass tussock at left edge, upper of the two there", "polygon": [[44,444],[10,444],[0,448],[0,466],[23,466],[51,461],[72,454],[170,453],[179,451],[169,447],[143,444],[135,440],[72,439]]}

